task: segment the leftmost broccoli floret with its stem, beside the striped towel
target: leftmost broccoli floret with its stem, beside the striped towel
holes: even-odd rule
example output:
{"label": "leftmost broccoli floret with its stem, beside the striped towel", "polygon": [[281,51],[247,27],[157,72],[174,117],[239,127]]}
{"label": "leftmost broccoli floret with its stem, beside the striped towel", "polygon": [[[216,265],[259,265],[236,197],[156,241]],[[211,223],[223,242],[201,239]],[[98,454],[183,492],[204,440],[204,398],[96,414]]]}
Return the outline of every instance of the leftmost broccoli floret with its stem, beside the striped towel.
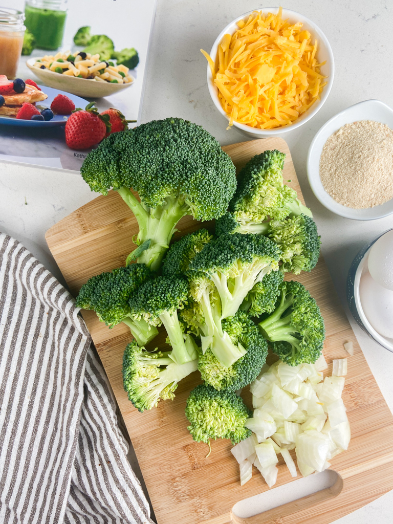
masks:
{"label": "leftmost broccoli floret with its stem, beside the striped towel", "polygon": [[138,344],[147,344],[158,334],[157,328],[144,319],[131,318],[128,301],[138,287],[150,278],[151,272],[144,264],[132,264],[101,273],[81,287],[77,307],[92,309],[109,328],[123,322]]}

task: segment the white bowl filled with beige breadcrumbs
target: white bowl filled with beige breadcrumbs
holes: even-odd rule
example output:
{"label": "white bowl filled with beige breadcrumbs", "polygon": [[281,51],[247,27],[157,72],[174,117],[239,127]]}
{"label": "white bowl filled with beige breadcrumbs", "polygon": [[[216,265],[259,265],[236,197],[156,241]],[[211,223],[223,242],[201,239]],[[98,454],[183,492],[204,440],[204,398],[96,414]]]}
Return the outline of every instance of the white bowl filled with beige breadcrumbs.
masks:
{"label": "white bowl filled with beige breadcrumbs", "polygon": [[393,110],[366,100],[333,116],[311,143],[307,175],[316,198],[337,215],[393,213]]}

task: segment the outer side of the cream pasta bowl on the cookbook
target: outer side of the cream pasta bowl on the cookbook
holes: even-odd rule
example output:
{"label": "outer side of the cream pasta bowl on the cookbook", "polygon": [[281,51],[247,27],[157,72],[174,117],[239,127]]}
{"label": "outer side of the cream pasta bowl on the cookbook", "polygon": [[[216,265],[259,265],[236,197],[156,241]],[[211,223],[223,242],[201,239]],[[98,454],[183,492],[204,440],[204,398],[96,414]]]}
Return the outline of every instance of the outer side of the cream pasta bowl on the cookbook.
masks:
{"label": "outer side of the cream pasta bowl on the cookbook", "polygon": [[134,82],[128,84],[115,84],[111,82],[97,82],[96,80],[87,78],[69,77],[66,74],[56,73],[50,69],[40,69],[34,64],[38,58],[29,58],[26,62],[27,67],[38,77],[42,82],[50,88],[59,89],[60,91],[67,91],[73,95],[82,96],[83,98],[102,98],[103,96],[110,96],[123,89],[129,88]]}

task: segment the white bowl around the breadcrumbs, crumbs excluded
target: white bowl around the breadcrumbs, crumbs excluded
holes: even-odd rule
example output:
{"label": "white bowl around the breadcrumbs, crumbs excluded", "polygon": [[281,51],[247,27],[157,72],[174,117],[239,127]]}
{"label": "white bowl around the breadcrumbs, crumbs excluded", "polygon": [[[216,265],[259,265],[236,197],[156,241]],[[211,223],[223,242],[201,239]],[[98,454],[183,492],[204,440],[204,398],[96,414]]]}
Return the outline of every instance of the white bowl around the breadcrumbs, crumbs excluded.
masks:
{"label": "white bowl around the breadcrumbs, crumbs excluded", "polygon": [[307,156],[307,176],[316,198],[333,213],[353,220],[375,220],[393,213],[393,199],[374,208],[353,209],[336,202],[322,185],[319,163],[326,140],[340,127],[359,120],[374,120],[393,129],[393,110],[379,100],[366,100],[337,113],[314,136]]}

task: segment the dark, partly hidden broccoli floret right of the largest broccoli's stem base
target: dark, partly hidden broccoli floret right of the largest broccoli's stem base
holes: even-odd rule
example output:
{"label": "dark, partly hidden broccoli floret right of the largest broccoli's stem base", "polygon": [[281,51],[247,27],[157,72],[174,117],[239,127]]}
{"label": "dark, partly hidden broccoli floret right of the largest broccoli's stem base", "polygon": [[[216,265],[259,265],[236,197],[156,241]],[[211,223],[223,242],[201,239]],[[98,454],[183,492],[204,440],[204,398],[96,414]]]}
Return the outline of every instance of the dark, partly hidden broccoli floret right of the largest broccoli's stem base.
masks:
{"label": "dark, partly hidden broccoli floret right of the largest broccoli's stem base", "polygon": [[195,233],[180,238],[169,248],[162,263],[162,274],[164,276],[182,277],[189,270],[195,255],[202,251],[205,244],[213,239],[208,230],[201,229]]}

